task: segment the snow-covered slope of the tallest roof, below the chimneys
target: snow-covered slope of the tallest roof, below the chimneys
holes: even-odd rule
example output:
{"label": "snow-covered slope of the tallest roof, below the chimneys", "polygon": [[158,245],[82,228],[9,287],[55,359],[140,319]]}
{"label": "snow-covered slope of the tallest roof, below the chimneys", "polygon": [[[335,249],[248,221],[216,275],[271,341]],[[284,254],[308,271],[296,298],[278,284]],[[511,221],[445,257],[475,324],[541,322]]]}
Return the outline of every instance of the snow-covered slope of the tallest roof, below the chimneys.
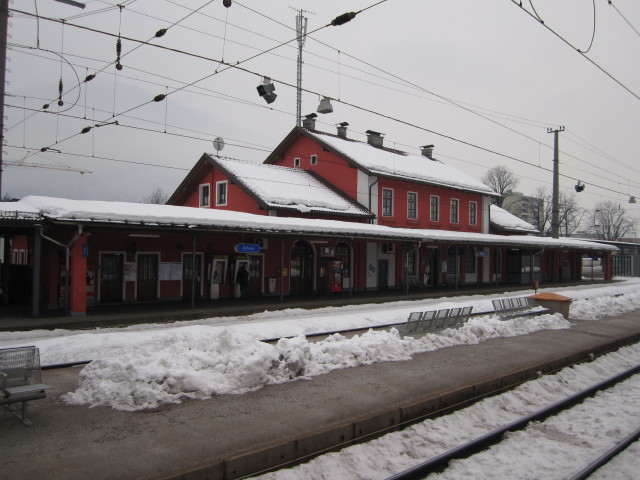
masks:
{"label": "snow-covered slope of the tallest roof, below the chimneys", "polygon": [[374,175],[393,176],[485,195],[498,195],[484,183],[439,160],[373,147],[368,143],[344,140],[318,132],[308,133],[318,141],[329,144]]}

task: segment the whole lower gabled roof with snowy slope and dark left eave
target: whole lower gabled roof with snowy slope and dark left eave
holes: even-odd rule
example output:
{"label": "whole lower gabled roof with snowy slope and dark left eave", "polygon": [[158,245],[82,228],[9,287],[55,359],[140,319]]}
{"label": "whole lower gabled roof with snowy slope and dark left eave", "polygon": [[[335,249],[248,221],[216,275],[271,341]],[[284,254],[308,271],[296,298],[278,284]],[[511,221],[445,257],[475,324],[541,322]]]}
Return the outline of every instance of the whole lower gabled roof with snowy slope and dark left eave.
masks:
{"label": "whole lower gabled roof with snowy slope and dark left eave", "polygon": [[374,216],[369,210],[342,194],[313,172],[220,158],[208,153],[200,157],[167,204],[184,204],[186,198],[197,191],[202,177],[212,168],[224,173],[265,210],[360,218]]}

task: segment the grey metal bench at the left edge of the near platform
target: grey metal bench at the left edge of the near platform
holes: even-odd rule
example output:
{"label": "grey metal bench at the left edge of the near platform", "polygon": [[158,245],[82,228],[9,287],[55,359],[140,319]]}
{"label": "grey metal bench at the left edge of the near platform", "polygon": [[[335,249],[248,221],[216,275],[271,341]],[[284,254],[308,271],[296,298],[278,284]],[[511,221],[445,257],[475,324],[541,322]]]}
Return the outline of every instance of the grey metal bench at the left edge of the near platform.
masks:
{"label": "grey metal bench at the left edge of the near platform", "polygon": [[42,383],[40,352],[36,347],[14,347],[0,349],[0,405],[22,403],[22,414],[18,415],[24,425],[27,419],[27,402],[47,396],[51,388]]}

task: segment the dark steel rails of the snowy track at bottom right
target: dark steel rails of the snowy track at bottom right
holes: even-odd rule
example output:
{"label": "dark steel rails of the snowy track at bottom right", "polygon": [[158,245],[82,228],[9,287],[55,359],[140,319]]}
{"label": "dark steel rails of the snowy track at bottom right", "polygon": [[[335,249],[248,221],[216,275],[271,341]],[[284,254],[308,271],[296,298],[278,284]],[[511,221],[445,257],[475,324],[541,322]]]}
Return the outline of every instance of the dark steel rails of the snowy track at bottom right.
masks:
{"label": "dark steel rails of the snowy track at bottom right", "polygon": [[[473,439],[463,445],[448,450],[436,457],[421,462],[414,467],[399,472],[387,480],[417,480],[423,479],[428,475],[436,472],[443,472],[449,467],[450,462],[457,459],[467,459],[484,451],[489,447],[496,445],[503,441],[505,434],[517,432],[527,428],[532,422],[542,422],[549,417],[558,415],[561,412],[565,412],[584,400],[593,397],[599,392],[603,392],[613,386],[635,377],[640,372],[640,365],[630,368],[618,375],[610,377],[604,381],[598,382],[589,388],[586,388],[574,395],[568,396],[563,400],[553,403],[546,408],[538,410],[530,415],[523,416],[522,418],[511,422],[501,428],[493,430],[490,433],[482,435],[476,439]],[[636,377],[637,378],[637,377]],[[594,459],[591,463],[585,466],[582,470],[575,473],[575,475],[569,477],[571,480],[582,480],[589,477],[600,467],[606,464],[611,458],[624,451],[629,445],[638,440],[640,437],[640,428],[637,428],[631,434],[625,436],[623,439],[616,442],[616,444],[608,451]],[[517,461],[517,459],[514,459]]]}

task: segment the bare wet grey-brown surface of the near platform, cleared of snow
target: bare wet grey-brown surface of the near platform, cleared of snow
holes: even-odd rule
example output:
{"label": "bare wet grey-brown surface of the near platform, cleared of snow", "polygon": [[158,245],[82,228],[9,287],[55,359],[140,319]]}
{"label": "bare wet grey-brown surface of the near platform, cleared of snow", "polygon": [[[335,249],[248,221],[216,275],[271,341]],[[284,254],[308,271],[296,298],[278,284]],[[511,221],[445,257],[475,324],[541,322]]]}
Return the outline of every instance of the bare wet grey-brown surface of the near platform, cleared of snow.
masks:
{"label": "bare wet grey-brown surface of the near platform, cleared of snow", "polygon": [[80,367],[47,370],[31,427],[0,409],[0,477],[239,478],[638,339],[640,311],[136,413],[66,405]]}

